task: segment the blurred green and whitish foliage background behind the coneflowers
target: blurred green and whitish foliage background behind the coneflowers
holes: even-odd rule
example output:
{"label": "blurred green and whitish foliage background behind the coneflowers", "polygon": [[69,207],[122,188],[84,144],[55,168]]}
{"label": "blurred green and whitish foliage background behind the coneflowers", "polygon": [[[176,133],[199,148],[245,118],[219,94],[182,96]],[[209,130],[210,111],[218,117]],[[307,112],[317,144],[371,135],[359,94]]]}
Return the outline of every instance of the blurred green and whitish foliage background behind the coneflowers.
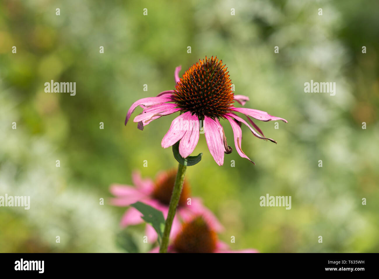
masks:
{"label": "blurred green and whitish foliage background behind the coneflowers", "polygon": [[[187,178],[226,228],[219,238],[261,252],[378,252],[378,13],[354,0],[2,0],[0,195],[30,195],[31,208],[0,208],[0,251],[149,251],[142,225],[119,228],[125,209],[109,205],[108,187],[177,166],[160,145],[174,115],[139,131],[126,112],[174,89],[175,66],[217,55],[246,107],[288,120],[257,123],[277,145],[242,128],[256,166],[233,152],[219,167],[200,135]],[[304,93],[311,79],[336,82],[336,95]],[[76,82],[76,96],[45,93],[50,80]],[[292,196],[291,210],[261,207],[267,193]]]}

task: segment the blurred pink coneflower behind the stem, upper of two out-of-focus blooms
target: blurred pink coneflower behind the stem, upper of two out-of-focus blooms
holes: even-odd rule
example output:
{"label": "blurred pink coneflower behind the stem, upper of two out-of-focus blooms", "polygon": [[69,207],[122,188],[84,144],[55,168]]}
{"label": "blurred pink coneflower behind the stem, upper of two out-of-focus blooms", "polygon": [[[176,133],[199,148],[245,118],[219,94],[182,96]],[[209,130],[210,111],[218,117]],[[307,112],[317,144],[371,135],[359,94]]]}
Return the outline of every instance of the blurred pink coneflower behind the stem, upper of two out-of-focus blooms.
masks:
{"label": "blurred pink coneflower behind the stem, upper of two out-of-focus blooms", "polygon": [[[158,173],[155,181],[149,178],[142,179],[138,172],[133,172],[132,180],[135,187],[119,184],[111,185],[110,192],[116,196],[111,199],[111,204],[116,206],[128,206],[138,201],[143,202],[162,211],[166,219],[175,177],[176,170]],[[188,198],[190,198],[190,205]],[[188,216],[193,214],[202,214],[207,222],[215,227],[216,231],[222,230],[222,226],[215,215],[202,204],[201,199],[191,197],[189,184],[185,180],[183,183],[183,191],[180,195],[177,214],[172,222],[171,234],[175,234],[180,230],[180,219],[188,218]],[[130,207],[121,218],[121,226],[126,227],[128,225],[136,225],[144,222],[141,218],[142,215],[143,214],[134,207]],[[158,235],[149,224],[146,226],[146,236],[149,242],[157,240]]]}

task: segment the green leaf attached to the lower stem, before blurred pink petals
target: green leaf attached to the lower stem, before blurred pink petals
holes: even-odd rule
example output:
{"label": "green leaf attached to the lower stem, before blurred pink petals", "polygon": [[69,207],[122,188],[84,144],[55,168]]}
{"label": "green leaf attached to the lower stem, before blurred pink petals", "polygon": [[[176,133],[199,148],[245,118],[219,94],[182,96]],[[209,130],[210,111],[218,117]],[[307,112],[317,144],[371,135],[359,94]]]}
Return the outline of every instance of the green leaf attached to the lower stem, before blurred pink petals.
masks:
{"label": "green leaf attached to the lower stem, before blurred pink petals", "polygon": [[163,213],[159,210],[156,210],[155,208],[151,207],[150,205],[147,205],[142,202],[136,202],[132,205],[136,210],[141,212],[144,216],[142,216],[142,219],[150,225],[153,226],[154,230],[158,234],[158,243],[161,244],[162,236],[163,236],[163,230],[164,230],[164,217]]}

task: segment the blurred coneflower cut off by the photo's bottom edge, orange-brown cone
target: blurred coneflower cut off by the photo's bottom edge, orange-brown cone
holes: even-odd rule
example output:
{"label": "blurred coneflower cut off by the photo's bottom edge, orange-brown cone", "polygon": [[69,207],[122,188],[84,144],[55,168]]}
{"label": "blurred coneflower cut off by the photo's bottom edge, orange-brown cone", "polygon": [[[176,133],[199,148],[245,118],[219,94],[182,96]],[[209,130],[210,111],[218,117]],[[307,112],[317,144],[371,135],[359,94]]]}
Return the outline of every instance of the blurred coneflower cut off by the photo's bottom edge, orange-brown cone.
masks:
{"label": "blurred coneflower cut off by the photo's bottom edge, orange-brown cone", "polygon": [[[218,240],[213,225],[203,216],[195,215],[186,218],[182,228],[173,233],[172,244],[168,247],[171,253],[257,253],[254,249],[232,251],[226,243]],[[155,247],[151,253],[158,253]]]}

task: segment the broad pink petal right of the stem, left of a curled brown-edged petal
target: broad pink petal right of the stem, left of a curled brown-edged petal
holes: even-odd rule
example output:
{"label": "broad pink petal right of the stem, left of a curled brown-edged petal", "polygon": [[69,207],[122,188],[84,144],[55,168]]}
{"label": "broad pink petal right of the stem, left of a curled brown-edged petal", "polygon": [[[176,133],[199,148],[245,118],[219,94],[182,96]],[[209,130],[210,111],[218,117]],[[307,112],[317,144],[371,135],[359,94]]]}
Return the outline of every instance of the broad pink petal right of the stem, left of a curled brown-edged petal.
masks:
{"label": "broad pink petal right of the stem, left of a curled brown-edged petal", "polygon": [[224,143],[222,141],[222,126],[218,120],[204,117],[204,135],[209,152],[219,166],[224,164]]}

